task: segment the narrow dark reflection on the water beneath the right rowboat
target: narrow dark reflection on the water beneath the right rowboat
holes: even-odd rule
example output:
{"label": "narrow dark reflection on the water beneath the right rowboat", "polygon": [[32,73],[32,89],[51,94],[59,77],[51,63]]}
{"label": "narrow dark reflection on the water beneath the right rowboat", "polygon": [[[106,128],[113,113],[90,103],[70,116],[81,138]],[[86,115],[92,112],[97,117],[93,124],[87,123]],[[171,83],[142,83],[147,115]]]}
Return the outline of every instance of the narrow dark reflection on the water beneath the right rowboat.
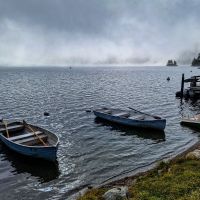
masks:
{"label": "narrow dark reflection on the water beneath the right rowboat", "polygon": [[114,122],[109,122],[109,121],[100,119],[98,117],[95,118],[95,123],[100,124],[102,126],[108,126],[108,127],[110,127],[110,130],[119,131],[119,132],[121,132],[121,135],[124,135],[124,136],[137,135],[138,137],[143,138],[143,139],[165,141],[165,132],[164,131],[122,126],[122,125],[116,124]]}

